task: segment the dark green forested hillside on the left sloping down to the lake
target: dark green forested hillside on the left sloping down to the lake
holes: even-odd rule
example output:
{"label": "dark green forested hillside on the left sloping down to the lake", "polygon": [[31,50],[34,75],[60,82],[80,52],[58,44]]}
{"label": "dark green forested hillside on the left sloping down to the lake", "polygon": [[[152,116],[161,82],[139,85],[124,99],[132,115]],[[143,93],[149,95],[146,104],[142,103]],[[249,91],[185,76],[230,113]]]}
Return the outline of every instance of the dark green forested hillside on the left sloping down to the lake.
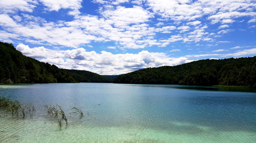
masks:
{"label": "dark green forested hillside on the left sloping down to the lake", "polygon": [[110,82],[89,71],[59,69],[39,62],[16,50],[12,44],[0,42],[1,83]]}

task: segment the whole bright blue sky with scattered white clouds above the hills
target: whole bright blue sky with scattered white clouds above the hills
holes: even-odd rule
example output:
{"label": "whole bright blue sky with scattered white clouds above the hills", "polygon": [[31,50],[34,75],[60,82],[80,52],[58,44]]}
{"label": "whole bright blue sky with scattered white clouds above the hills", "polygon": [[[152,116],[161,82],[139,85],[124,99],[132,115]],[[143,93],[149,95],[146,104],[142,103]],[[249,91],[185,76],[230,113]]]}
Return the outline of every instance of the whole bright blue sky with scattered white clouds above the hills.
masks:
{"label": "whole bright blue sky with scattered white clouds above the hills", "polygon": [[101,75],[255,56],[256,1],[0,0],[0,41]]}

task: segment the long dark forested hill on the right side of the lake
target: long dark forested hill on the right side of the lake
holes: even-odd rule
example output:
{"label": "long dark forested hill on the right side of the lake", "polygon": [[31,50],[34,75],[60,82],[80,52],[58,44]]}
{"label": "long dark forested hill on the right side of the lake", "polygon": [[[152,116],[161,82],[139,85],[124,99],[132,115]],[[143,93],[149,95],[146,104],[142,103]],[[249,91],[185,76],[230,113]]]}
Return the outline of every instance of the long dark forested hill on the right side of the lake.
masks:
{"label": "long dark forested hill on the right side of the lake", "polygon": [[237,85],[256,88],[256,56],[200,60],[178,66],[141,69],[120,75],[114,83]]}

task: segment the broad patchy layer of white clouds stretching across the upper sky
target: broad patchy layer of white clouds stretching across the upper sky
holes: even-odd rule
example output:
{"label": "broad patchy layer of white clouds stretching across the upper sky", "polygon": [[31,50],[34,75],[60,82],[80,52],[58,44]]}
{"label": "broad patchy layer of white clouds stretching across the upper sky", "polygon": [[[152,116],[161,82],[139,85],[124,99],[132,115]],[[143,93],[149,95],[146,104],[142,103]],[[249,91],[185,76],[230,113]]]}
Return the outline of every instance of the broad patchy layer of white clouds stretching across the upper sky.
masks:
{"label": "broad patchy layer of white clouds stretching across the upper sky", "polygon": [[[229,26],[225,23],[238,22],[236,18],[250,17],[252,18],[248,21],[250,23],[256,16],[255,2],[250,0],[94,0],[92,2],[99,5],[97,16],[79,11],[82,0],[11,2],[3,0],[0,2],[2,13],[0,13],[0,26],[6,33],[26,38],[27,41],[41,41],[40,43],[73,48],[92,42],[115,42],[116,48],[137,49],[151,46],[164,47],[173,41],[212,42],[220,37],[212,33],[225,34],[232,30],[209,32],[210,23],[207,23],[207,20],[222,24],[219,25],[220,29]],[[130,3],[131,6],[123,5],[126,3]],[[32,12],[37,6],[42,5],[47,11],[65,9],[74,17],[69,21],[53,22],[23,13]],[[17,11],[22,13],[8,14]],[[205,18],[207,20],[203,21]],[[160,34],[168,34],[168,36],[159,39]],[[174,40],[174,36],[179,36],[183,40],[179,38]]]}

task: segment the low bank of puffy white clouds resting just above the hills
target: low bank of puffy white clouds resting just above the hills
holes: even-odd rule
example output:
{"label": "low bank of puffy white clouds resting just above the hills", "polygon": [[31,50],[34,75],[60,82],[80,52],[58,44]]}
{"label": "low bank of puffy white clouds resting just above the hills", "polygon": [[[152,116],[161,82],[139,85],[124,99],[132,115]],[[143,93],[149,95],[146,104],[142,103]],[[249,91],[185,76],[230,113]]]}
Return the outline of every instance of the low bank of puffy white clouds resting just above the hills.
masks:
{"label": "low bank of puffy white clouds resting just above the hills", "polygon": [[56,51],[45,47],[30,48],[24,44],[17,45],[16,49],[27,56],[40,58],[41,62],[48,62],[59,68],[88,70],[104,75],[123,74],[149,67],[175,66],[192,61],[185,57],[170,58],[165,53],[147,50],[113,54],[107,51],[100,53],[86,51],[84,48]]}

